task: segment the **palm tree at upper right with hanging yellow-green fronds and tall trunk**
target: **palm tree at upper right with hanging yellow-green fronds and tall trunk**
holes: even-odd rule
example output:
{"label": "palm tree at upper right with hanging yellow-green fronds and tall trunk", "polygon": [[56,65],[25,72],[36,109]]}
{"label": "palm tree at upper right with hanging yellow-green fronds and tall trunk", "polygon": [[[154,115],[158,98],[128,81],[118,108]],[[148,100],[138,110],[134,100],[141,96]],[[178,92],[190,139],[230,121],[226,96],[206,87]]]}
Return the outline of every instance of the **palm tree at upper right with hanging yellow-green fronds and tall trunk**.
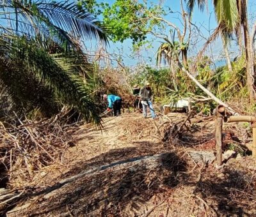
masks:
{"label": "palm tree at upper right with hanging yellow-green fronds and tall trunk", "polygon": [[[187,0],[189,12],[192,13],[195,7],[195,0]],[[198,0],[198,6],[204,10],[207,0]],[[253,52],[250,34],[248,30],[247,19],[247,3],[246,0],[213,0],[216,19],[219,26],[221,25],[221,35],[224,36],[232,33],[239,33],[237,29],[241,26],[244,31],[244,46],[246,53],[246,73],[247,73],[247,87],[250,100],[255,99],[255,91],[253,86]],[[224,45],[225,46],[225,45]]]}

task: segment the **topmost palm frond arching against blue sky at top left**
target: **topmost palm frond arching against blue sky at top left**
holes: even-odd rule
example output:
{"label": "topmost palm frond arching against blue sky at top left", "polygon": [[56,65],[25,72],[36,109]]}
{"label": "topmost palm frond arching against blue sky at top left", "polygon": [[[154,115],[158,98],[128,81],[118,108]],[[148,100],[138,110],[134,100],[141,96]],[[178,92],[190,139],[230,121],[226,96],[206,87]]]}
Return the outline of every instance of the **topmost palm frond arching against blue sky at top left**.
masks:
{"label": "topmost palm frond arching against blue sky at top left", "polygon": [[51,39],[73,49],[76,47],[74,38],[108,41],[100,22],[90,13],[79,10],[76,3],[6,0],[1,8],[10,11],[8,29],[18,35],[45,41]]}

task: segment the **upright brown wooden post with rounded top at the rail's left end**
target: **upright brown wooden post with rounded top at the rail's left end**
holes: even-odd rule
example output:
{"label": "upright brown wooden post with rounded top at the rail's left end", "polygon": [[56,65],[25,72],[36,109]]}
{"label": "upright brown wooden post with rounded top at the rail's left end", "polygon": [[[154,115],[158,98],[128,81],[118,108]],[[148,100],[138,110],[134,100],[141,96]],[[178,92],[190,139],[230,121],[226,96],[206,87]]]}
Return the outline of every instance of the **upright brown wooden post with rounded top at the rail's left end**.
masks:
{"label": "upright brown wooden post with rounded top at the rail's left end", "polygon": [[219,105],[216,108],[216,119],[215,119],[215,142],[216,142],[216,158],[217,165],[222,165],[222,125],[223,125],[223,116],[225,114],[225,108],[222,105]]}

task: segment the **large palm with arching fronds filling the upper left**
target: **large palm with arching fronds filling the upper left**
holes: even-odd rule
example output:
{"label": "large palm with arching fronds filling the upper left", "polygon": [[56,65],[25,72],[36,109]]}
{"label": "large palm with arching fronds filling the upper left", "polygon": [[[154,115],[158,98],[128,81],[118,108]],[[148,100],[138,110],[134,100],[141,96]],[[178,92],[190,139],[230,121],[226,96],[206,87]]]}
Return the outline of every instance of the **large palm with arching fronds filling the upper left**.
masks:
{"label": "large palm with arching fronds filling the upper left", "polygon": [[107,41],[99,22],[75,3],[45,1],[4,1],[0,18],[0,83],[16,107],[52,112],[63,103],[99,124],[86,84],[92,67],[77,40]]}

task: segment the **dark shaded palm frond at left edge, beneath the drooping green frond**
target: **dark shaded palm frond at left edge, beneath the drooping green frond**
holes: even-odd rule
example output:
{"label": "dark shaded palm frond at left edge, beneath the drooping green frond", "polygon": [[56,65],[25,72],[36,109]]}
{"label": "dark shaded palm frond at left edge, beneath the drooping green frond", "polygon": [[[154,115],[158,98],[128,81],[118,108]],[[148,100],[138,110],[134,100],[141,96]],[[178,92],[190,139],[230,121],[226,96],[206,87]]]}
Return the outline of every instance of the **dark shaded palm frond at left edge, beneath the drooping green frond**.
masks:
{"label": "dark shaded palm frond at left edge, beneath the drooping green frond", "polygon": [[13,61],[11,56],[0,55],[0,60],[1,85],[13,102],[12,110],[23,114],[39,108],[46,117],[58,112],[58,103],[52,90],[26,70],[22,59]]}

